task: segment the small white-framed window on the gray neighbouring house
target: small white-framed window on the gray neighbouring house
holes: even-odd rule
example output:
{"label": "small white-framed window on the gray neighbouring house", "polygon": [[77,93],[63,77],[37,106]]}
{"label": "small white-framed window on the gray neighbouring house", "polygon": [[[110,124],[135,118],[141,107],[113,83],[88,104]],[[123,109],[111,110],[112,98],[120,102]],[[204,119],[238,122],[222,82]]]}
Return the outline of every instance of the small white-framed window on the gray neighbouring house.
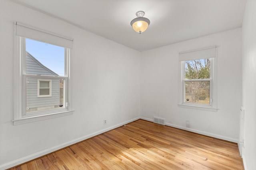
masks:
{"label": "small white-framed window on the gray neighbouring house", "polygon": [[51,97],[52,96],[52,80],[38,80],[37,81],[37,97]]}

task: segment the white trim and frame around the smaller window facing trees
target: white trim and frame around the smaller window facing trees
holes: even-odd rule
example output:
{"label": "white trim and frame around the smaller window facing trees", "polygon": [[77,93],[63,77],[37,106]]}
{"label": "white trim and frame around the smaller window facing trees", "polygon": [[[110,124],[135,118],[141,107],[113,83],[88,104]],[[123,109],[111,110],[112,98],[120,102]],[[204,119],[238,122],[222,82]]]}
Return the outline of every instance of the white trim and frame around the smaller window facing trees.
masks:
{"label": "white trim and frame around the smaller window facing trees", "polygon": [[[200,55],[200,53],[204,54],[204,51],[210,49],[213,50],[215,48],[216,50],[216,54],[215,56],[210,56],[210,57],[205,57],[205,58],[210,58],[210,62],[211,62],[211,75],[210,75],[210,79],[204,79],[204,80],[208,80],[210,81],[210,105],[201,105],[201,104],[191,104],[191,103],[186,103],[184,102],[185,98],[184,98],[184,82],[185,81],[190,81],[190,80],[183,80],[183,74],[184,74],[184,66],[185,66],[185,60],[194,60],[193,58],[188,58],[189,57],[189,53],[193,53],[196,52]],[[180,59],[180,64],[179,64],[179,98],[178,98],[178,106],[179,107],[183,107],[183,108],[189,108],[189,109],[199,109],[199,110],[206,110],[206,111],[218,111],[218,107],[217,107],[217,63],[218,63],[218,51],[217,51],[217,46],[214,47],[207,47],[207,48],[203,48],[203,49],[197,49],[197,50],[192,50],[192,51],[186,51],[186,52],[182,52],[182,53],[188,53],[188,55],[186,55],[183,59]],[[182,54],[180,53],[180,54]],[[201,59],[201,58],[196,58],[196,59]],[[203,58],[202,58],[203,59]],[[213,68],[213,69],[212,69]],[[191,80],[192,81],[192,80]]]}

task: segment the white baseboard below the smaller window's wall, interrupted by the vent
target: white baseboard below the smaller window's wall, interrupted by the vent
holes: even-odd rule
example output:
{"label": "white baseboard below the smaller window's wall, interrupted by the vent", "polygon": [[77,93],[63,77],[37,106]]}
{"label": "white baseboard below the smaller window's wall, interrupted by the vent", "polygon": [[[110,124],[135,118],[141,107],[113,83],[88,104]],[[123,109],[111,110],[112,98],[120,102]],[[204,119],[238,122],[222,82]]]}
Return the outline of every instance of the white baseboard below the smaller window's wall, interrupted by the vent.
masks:
{"label": "white baseboard below the smaller window's wall, interrupted by the vent", "polygon": [[[140,117],[140,119],[153,122],[153,119],[148,119],[148,118],[145,118],[145,117]],[[194,132],[194,133],[198,133],[198,134],[201,134],[201,135],[206,135],[206,136],[209,136],[209,137],[222,139],[222,140],[225,140],[225,141],[238,143],[238,139],[233,139],[233,138],[230,138],[230,137],[225,137],[225,136],[217,135],[217,134],[214,134],[214,133],[209,133],[209,132],[205,132],[205,131],[198,131],[196,129],[183,127],[183,126],[180,126],[180,125],[174,125],[172,123],[165,123],[165,125],[170,126],[170,127],[175,127],[175,128],[178,128],[178,129],[182,129],[182,130],[186,130],[186,131],[190,131],[190,132]]]}

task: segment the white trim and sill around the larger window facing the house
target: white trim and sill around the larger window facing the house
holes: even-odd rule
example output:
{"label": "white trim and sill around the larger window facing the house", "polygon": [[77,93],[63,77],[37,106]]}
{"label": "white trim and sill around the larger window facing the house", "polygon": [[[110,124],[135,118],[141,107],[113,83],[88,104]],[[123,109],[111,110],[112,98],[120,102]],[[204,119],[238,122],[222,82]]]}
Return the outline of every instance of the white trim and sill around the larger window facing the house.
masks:
{"label": "white trim and sill around the larger window facing the house", "polygon": [[[64,47],[68,47],[68,49],[66,50],[66,53],[68,53],[68,57],[66,59],[67,61],[67,67],[68,68],[66,70],[66,81],[68,83],[68,87],[66,88],[66,98],[67,98],[67,103],[66,103],[66,109],[63,110],[57,110],[56,112],[44,112],[41,115],[40,114],[35,114],[35,115],[23,115],[23,110],[26,109],[26,107],[24,108],[24,98],[23,98],[23,69],[22,67],[24,66],[24,61],[22,61],[22,59],[24,58],[22,56],[22,50],[24,49],[24,47],[22,46],[23,43],[22,41],[24,41],[24,39],[20,36],[17,35],[17,31],[16,31],[16,27],[17,25],[23,25],[20,23],[15,22],[14,23],[14,118],[13,118],[13,123],[14,125],[19,125],[19,124],[23,124],[23,123],[30,123],[30,122],[34,122],[34,121],[41,121],[41,120],[45,120],[45,119],[52,119],[52,118],[56,118],[56,117],[62,117],[62,116],[66,116],[66,115],[72,115],[73,114],[73,109],[72,109],[72,80],[71,80],[71,74],[70,74],[70,65],[71,65],[71,59],[70,59],[70,55],[71,55],[71,51],[70,49],[72,48],[72,42],[69,43],[68,41],[73,41],[73,39],[67,38],[67,37],[62,37],[60,35],[56,35],[54,33],[50,33],[48,31],[44,31],[42,29],[36,29],[34,27],[30,27],[26,25],[26,28],[28,29],[33,29],[35,32],[38,30],[40,31],[42,34],[44,35],[50,35],[50,36],[56,36],[57,39],[61,40],[64,39],[64,42],[68,42],[66,44],[68,44],[67,46]],[[68,40],[68,41],[67,41]],[[55,45],[58,45],[58,40],[54,41],[57,43],[54,43]],[[47,42],[47,43],[51,43],[51,42]],[[59,77],[60,78],[60,77]]]}

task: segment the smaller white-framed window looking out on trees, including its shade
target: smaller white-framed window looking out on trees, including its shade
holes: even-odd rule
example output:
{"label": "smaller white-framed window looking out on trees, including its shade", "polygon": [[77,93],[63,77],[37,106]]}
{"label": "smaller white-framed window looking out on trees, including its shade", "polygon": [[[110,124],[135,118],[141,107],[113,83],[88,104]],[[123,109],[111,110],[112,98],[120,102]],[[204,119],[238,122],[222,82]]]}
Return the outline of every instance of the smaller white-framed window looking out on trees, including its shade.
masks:
{"label": "smaller white-framed window looking out on trees, including its shade", "polygon": [[217,111],[216,49],[180,53],[180,107]]}

